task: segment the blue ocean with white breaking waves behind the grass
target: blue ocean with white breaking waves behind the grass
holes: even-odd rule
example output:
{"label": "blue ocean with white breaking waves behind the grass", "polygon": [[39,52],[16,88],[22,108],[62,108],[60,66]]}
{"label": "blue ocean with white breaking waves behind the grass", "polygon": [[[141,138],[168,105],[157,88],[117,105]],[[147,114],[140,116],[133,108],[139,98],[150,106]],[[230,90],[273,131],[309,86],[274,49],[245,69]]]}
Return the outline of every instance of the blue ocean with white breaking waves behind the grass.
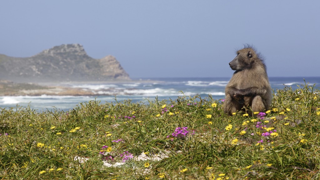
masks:
{"label": "blue ocean with white breaking waves behind the grass", "polygon": [[[148,78],[133,79],[132,82],[125,83],[96,83],[96,84],[68,84],[70,87],[84,88],[87,90],[96,90],[95,96],[0,96],[0,108],[10,108],[19,106],[30,106],[37,111],[45,110],[63,110],[68,111],[76,107],[80,102],[89,102],[98,100],[100,103],[115,102],[131,99],[132,102],[148,103],[154,101],[156,97],[159,100],[175,100],[183,94],[186,96],[200,95],[203,99],[212,95],[214,99],[223,99],[225,86],[230,78]],[[306,77],[309,85],[316,84],[319,89],[320,77]],[[305,84],[302,77],[270,77],[272,89],[283,89],[284,86]],[[182,91],[183,94],[180,92]],[[99,94],[110,95],[99,95]],[[115,96],[116,95],[116,96]]]}

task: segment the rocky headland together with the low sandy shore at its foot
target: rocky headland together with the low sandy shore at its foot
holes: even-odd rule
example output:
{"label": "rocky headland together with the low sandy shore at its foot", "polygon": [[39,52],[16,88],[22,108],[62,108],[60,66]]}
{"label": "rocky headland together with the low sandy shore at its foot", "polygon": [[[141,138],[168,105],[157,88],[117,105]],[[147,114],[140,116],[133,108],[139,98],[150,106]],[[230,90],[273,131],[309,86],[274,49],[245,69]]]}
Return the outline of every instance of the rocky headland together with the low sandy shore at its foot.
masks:
{"label": "rocky headland together with the low sandy shore at its foot", "polygon": [[31,57],[0,54],[0,96],[95,95],[68,82],[131,81],[115,57],[94,59],[80,44],[63,44]]}

